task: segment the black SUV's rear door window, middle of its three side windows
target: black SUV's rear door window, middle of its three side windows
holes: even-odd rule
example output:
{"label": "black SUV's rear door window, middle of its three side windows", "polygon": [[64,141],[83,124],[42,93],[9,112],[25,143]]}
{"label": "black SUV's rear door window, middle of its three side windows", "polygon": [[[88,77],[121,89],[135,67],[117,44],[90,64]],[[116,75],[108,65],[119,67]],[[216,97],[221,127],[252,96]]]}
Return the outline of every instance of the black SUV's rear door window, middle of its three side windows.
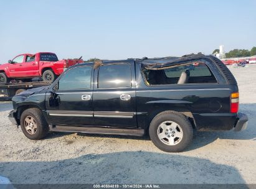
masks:
{"label": "black SUV's rear door window, middle of its three side windows", "polygon": [[131,67],[127,63],[103,65],[98,71],[98,88],[131,87]]}

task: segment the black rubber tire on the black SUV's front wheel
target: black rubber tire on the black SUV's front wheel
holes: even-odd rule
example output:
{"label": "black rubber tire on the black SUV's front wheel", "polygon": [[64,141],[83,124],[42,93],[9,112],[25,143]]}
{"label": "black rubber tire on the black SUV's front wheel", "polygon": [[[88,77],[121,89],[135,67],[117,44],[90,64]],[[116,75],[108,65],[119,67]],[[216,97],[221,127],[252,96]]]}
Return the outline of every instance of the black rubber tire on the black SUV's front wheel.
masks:
{"label": "black rubber tire on the black SUV's front wheel", "polygon": [[[33,121],[36,122],[36,126],[37,128],[34,129],[34,134],[32,134],[32,129],[27,131],[26,129],[26,121],[25,119],[29,119],[32,121],[32,119],[34,119]],[[37,108],[29,108],[26,109],[22,114],[21,114],[21,129],[22,132],[24,133],[24,135],[26,137],[28,137],[31,140],[40,140],[42,138],[44,138],[48,131],[49,131],[49,126],[47,124],[47,122],[44,119],[44,116],[42,114],[42,112],[37,109]]]}

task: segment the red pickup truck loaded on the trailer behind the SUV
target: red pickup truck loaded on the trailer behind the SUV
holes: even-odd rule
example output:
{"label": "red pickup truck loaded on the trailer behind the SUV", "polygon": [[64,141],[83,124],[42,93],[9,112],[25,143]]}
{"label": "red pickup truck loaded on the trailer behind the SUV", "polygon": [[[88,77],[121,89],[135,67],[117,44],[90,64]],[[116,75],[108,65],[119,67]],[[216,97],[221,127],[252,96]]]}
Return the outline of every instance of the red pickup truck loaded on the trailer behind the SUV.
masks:
{"label": "red pickup truck loaded on the trailer behind the SUV", "polygon": [[82,63],[81,58],[58,60],[57,55],[51,52],[17,55],[0,65],[0,83],[9,83],[12,79],[28,81],[39,76],[43,81],[52,83],[66,68]]}

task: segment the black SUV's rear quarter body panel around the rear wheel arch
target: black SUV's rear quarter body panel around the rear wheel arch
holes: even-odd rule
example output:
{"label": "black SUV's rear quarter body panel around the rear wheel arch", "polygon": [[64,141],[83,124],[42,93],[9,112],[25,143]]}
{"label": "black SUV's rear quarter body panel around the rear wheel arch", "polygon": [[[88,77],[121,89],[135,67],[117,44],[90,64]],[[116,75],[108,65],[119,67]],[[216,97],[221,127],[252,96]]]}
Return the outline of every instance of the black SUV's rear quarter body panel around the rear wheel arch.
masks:
{"label": "black SUV's rear quarter body panel around the rear wheel arch", "polygon": [[185,84],[146,86],[136,66],[136,108],[138,126],[146,128],[157,114],[173,110],[194,119],[201,131],[230,130],[237,114],[230,114],[230,93],[236,85]]}

